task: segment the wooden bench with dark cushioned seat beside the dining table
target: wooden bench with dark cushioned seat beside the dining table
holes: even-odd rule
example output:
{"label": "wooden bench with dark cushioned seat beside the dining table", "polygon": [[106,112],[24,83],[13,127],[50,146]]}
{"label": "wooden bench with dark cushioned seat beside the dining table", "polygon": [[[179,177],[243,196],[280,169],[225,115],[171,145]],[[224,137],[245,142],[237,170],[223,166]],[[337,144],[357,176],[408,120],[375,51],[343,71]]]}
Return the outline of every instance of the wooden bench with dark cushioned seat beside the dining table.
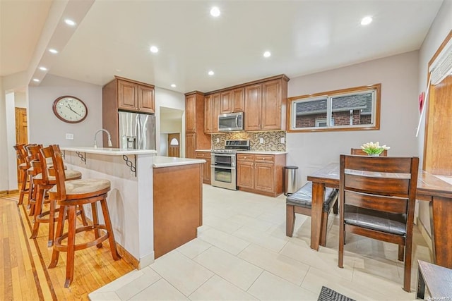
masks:
{"label": "wooden bench with dark cushioned seat beside the dining table", "polygon": [[[321,245],[326,244],[326,228],[328,226],[328,214],[333,209],[338,214],[338,190],[333,188],[325,189],[325,199],[323,200],[323,213],[321,223]],[[285,202],[285,235],[292,237],[295,227],[295,214],[311,216],[312,207],[312,182],[306,183],[294,194],[288,196]]]}

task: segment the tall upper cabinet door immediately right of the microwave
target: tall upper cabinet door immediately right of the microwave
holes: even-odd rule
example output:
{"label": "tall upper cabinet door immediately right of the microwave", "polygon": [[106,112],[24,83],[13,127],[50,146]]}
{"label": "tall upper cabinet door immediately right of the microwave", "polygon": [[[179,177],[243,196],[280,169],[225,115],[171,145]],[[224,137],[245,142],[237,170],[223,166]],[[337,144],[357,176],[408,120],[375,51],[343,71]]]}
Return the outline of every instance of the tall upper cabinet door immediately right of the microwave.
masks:
{"label": "tall upper cabinet door immediately right of the microwave", "polygon": [[261,130],[262,85],[245,87],[245,130]]}

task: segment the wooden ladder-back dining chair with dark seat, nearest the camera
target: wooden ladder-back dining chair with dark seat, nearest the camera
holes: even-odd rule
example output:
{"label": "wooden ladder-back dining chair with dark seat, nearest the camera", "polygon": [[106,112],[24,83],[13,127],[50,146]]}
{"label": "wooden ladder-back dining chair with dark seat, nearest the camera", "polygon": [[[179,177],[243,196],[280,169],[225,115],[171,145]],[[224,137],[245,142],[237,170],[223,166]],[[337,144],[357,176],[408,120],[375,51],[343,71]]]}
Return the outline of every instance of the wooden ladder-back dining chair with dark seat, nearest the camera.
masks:
{"label": "wooden ladder-back dining chair with dark seat, nearest the camera", "polygon": [[340,155],[338,266],[345,232],[398,245],[405,261],[403,289],[410,292],[417,157]]}

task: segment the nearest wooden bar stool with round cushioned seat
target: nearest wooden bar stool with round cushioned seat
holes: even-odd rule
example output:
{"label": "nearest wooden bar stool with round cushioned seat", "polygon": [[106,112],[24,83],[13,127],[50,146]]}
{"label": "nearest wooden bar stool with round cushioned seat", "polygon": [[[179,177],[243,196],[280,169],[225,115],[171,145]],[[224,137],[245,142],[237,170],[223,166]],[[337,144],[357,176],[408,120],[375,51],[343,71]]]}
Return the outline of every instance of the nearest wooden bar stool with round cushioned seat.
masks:
{"label": "nearest wooden bar stool with round cushioned seat", "polygon": [[[43,149],[47,152],[47,149]],[[102,247],[102,241],[109,240],[110,252],[114,260],[121,259],[117,252],[116,242],[114,241],[114,234],[112,223],[109,218],[107,207],[107,193],[110,190],[110,182],[105,179],[84,179],[84,180],[69,180],[64,182],[64,166],[61,152],[58,145],[52,145],[49,152],[52,152],[52,159],[54,164],[55,177],[57,185],[49,190],[49,199],[54,199],[59,204],[59,216],[57,224],[57,239],[54,242],[54,250],[52,252],[52,259],[49,268],[54,268],[58,264],[59,252],[67,252],[66,259],[66,281],[64,287],[67,288],[73,281],[74,257],[76,250],[83,250],[88,247]],[[105,225],[100,225],[97,217],[96,203],[100,202],[102,213],[105,220]],[[93,212],[93,226],[76,226],[76,207],[78,205],[91,204]],[[69,216],[68,232],[63,233],[64,220]],[[100,235],[100,229],[105,230],[106,233]],[[76,233],[93,230],[95,239],[88,242],[79,243],[76,245]],[[62,240],[67,240],[67,245],[62,245]]]}

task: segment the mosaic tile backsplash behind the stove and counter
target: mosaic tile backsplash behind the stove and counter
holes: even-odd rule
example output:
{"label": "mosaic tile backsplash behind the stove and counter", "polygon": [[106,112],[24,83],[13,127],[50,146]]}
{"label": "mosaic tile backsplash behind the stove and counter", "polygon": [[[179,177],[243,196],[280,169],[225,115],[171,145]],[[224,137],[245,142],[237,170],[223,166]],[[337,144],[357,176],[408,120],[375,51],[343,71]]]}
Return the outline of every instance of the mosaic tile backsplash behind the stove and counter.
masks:
{"label": "mosaic tile backsplash behind the stove and counter", "polygon": [[[260,143],[261,138],[263,138],[263,143]],[[284,143],[281,143],[281,139],[284,139]],[[225,148],[226,140],[249,140],[251,150],[285,152],[284,130],[271,132],[231,132],[212,134],[212,149]]]}

